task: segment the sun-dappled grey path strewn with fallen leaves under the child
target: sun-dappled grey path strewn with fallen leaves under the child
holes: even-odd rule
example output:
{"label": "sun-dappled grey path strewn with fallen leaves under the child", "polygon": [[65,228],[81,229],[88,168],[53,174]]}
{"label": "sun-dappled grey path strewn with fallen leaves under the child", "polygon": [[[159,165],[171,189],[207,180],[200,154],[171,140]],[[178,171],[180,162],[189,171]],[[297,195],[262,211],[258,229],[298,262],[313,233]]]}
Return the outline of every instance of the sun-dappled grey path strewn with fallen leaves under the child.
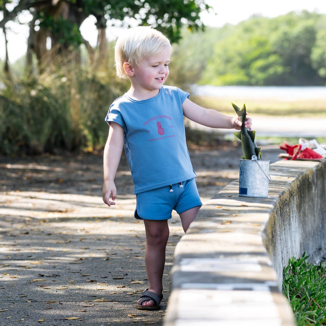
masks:
{"label": "sun-dappled grey path strewn with fallen leaves under the child", "polygon": [[[190,151],[203,203],[238,178],[241,153]],[[279,150],[262,153],[274,162]],[[102,173],[101,155],[0,159],[0,325],[162,325],[181,223],[169,220],[162,309],[135,309],[148,284],[143,223],[133,218],[126,159],[112,208],[101,199]]]}

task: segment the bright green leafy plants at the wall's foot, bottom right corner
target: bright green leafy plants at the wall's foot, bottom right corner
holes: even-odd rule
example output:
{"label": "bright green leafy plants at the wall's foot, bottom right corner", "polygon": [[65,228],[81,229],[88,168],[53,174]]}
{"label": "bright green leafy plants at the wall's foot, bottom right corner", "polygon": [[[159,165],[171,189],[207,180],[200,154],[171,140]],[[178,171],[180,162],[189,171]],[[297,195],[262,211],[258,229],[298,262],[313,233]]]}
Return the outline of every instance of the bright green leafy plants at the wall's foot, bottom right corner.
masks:
{"label": "bright green leafy plants at the wall's foot, bottom right corner", "polygon": [[308,263],[309,256],[289,259],[284,268],[283,293],[292,306],[298,326],[326,325],[326,271]]}

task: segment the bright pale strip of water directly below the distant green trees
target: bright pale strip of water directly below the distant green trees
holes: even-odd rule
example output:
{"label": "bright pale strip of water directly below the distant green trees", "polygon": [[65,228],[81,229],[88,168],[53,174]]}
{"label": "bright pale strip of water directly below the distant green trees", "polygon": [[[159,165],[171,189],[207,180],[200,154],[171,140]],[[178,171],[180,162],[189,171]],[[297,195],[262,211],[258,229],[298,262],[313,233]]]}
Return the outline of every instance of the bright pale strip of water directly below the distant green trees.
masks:
{"label": "bright pale strip of water directly below the distant green trees", "polygon": [[193,95],[216,97],[278,98],[282,100],[326,99],[323,86],[211,86],[193,85]]}

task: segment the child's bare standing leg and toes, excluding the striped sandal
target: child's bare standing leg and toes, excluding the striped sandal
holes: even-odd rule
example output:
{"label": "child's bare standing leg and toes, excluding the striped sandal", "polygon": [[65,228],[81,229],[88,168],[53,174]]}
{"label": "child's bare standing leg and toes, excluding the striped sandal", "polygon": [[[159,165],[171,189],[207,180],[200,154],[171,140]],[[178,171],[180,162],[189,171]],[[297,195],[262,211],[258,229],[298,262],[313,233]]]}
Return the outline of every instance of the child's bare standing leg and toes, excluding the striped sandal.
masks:
{"label": "child's bare standing leg and toes, excluding the striped sandal", "polygon": [[[144,220],[146,230],[145,265],[149,281],[149,291],[159,297],[163,291],[162,277],[165,265],[165,248],[169,239],[168,220]],[[155,305],[153,300],[142,305]]]}

